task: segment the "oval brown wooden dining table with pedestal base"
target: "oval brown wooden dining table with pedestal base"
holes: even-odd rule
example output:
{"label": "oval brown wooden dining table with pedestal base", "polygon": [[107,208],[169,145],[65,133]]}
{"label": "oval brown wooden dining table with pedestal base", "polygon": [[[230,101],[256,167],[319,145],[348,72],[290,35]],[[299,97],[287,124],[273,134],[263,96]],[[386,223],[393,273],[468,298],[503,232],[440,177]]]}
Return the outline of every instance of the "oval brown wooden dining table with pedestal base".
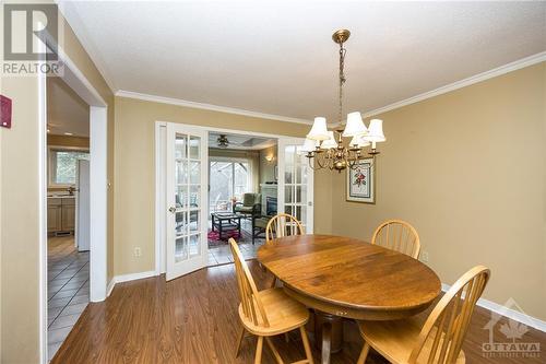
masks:
{"label": "oval brown wooden dining table with pedestal base", "polygon": [[258,260],[283,282],[286,293],[316,312],[322,363],[341,350],[342,318],[391,320],[426,309],[440,280],[420,261],[363,240],[331,235],[274,239]]}

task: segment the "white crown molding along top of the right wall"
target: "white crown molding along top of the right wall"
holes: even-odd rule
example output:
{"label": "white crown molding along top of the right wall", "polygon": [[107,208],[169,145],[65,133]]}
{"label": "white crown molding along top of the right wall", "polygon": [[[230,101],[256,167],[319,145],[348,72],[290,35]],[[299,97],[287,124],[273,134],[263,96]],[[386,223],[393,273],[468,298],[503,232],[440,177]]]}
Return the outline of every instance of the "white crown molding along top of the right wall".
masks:
{"label": "white crown molding along top of the right wall", "polygon": [[415,103],[425,101],[427,98],[442,95],[442,94],[446,94],[448,92],[455,91],[455,90],[459,90],[462,87],[466,87],[466,86],[470,86],[474,83],[489,80],[489,79],[492,79],[492,78],[496,78],[496,77],[499,77],[499,75],[502,75],[502,74],[506,74],[506,73],[509,73],[512,71],[517,71],[519,69],[522,69],[522,68],[525,68],[529,66],[533,66],[533,64],[536,64],[539,62],[544,62],[544,61],[546,61],[546,51],[542,51],[539,54],[522,58],[520,60],[510,62],[508,64],[494,68],[492,70],[472,75],[467,79],[463,79],[461,81],[456,81],[456,82],[450,83],[448,85],[435,89],[432,91],[428,91],[428,92],[412,96],[410,98],[402,99],[402,101],[395,102],[393,104],[376,108],[371,111],[365,113],[363,115],[363,117],[368,118],[368,117],[377,116],[379,114],[383,114],[383,113],[387,113],[387,111],[390,111],[390,110],[393,110],[393,109],[396,109],[396,108],[400,108],[403,106],[415,104]]}

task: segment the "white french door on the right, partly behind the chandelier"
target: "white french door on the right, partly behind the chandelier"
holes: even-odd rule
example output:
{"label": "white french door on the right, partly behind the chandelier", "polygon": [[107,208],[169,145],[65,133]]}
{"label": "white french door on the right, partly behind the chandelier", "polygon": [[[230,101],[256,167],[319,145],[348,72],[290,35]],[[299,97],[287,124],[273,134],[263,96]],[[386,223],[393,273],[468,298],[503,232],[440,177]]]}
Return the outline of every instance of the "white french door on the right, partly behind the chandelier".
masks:
{"label": "white french door on the right, partly behind the chandelier", "polygon": [[306,234],[313,232],[313,171],[301,151],[304,139],[278,139],[278,212],[301,222]]}

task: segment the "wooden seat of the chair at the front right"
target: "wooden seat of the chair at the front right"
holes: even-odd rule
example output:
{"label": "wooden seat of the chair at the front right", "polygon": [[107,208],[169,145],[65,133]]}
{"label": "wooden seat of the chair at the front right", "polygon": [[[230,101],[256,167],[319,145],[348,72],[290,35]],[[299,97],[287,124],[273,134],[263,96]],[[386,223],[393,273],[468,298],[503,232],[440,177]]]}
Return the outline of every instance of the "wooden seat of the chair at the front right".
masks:
{"label": "wooden seat of the chair at the front right", "polygon": [[[424,321],[418,317],[412,317],[394,321],[359,321],[358,328],[364,340],[383,357],[389,360],[389,362],[405,364],[408,362],[410,355],[417,344],[417,338],[419,337],[423,324]],[[417,364],[426,364],[428,362],[428,352],[430,352],[434,342],[431,337],[434,337],[434,334],[429,336],[427,339],[417,359]],[[462,350],[455,363],[465,363],[465,356]]]}

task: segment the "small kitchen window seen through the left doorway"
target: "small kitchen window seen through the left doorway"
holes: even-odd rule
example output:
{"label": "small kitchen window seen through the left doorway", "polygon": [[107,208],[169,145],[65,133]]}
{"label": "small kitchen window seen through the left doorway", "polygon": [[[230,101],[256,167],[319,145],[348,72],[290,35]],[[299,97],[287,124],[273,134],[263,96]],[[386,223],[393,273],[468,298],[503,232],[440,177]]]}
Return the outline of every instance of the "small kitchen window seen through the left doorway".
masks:
{"label": "small kitchen window seen through the left doorway", "polygon": [[71,186],[75,184],[76,161],[88,160],[86,150],[50,149],[49,185]]}

